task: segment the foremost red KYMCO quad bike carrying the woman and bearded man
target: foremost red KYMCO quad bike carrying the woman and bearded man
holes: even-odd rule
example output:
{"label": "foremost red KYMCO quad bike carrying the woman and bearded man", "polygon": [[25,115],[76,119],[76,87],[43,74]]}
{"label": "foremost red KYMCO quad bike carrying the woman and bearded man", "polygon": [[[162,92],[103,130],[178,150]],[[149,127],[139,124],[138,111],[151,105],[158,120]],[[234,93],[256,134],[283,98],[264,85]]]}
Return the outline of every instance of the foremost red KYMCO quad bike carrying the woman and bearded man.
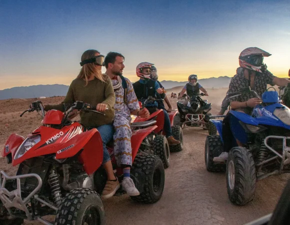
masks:
{"label": "foremost red KYMCO quad bike carrying the woman and bearded man", "polygon": [[[45,115],[42,103],[35,101],[24,112],[34,110],[42,112],[43,125],[25,139],[11,134],[2,152],[8,163],[19,167],[14,176],[0,172],[0,224],[19,225],[28,219],[52,225],[41,218],[44,215],[56,215],[55,225],[104,224],[99,196],[106,182],[101,166],[102,140],[97,129],[87,130],[70,120],[79,111],[100,112],[81,101],[74,102],[64,113],[49,110]],[[158,201],[164,188],[162,161],[140,147],[142,140],[157,128],[154,123],[138,123],[132,131],[131,177],[140,195],[131,198],[142,203]],[[122,170],[116,167],[111,146],[108,151],[121,181]]]}

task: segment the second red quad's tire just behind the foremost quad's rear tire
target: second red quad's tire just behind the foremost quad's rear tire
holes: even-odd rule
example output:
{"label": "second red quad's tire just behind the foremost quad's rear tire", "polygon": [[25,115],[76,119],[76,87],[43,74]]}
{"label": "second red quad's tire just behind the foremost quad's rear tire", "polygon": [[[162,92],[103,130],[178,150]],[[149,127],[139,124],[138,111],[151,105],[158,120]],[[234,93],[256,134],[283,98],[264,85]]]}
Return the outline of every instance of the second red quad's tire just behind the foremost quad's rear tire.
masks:
{"label": "second red quad's tire just behind the foremost quad's rear tire", "polygon": [[156,135],[154,138],[154,154],[157,155],[163,162],[164,168],[168,168],[170,151],[169,144],[165,136]]}

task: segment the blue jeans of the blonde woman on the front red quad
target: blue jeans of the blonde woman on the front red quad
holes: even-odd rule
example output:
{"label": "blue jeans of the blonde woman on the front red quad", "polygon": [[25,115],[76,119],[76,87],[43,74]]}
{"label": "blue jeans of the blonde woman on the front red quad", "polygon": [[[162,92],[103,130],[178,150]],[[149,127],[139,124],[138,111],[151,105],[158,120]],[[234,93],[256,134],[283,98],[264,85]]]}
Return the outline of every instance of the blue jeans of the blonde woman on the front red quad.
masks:
{"label": "blue jeans of the blonde woman on the front red quad", "polygon": [[102,164],[106,163],[110,160],[110,155],[106,149],[106,144],[113,138],[114,135],[114,127],[112,124],[104,124],[101,126],[88,126],[88,129],[97,128],[100,137],[102,139],[102,150],[103,150],[103,157],[102,157]]}

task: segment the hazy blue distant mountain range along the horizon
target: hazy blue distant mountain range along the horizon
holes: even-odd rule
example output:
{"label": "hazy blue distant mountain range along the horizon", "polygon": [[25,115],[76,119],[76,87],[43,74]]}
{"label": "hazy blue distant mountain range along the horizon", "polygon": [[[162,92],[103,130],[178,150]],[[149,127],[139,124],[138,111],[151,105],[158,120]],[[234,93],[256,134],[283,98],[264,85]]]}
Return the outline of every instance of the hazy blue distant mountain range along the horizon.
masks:
{"label": "hazy blue distant mountain range along the horizon", "polygon": [[[198,82],[205,88],[220,88],[228,87],[231,77],[219,76],[217,78],[211,77],[206,79],[199,79]],[[183,86],[187,81],[171,81],[162,80],[161,84],[165,89],[175,86]],[[32,98],[32,97],[51,97],[51,96],[65,96],[68,90],[68,85],[63,84],[47,84],[47,85],[32,85],[32,86],[16,86],[0,90],[0,100],[8,98]]]}

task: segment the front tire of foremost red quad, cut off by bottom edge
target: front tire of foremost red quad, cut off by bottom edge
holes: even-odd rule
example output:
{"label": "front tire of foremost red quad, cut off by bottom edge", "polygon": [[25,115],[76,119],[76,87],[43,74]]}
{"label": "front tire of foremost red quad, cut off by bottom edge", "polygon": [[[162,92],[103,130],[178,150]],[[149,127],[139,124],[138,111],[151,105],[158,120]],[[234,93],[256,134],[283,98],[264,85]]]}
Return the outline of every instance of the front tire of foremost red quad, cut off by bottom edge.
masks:
{"label": "front tire of foremost red quad, cut off by bottom edge", "polygon": [[89,188],[71,190],[59,205],[54,224],[105,224],[104,208],[100,196]]}

